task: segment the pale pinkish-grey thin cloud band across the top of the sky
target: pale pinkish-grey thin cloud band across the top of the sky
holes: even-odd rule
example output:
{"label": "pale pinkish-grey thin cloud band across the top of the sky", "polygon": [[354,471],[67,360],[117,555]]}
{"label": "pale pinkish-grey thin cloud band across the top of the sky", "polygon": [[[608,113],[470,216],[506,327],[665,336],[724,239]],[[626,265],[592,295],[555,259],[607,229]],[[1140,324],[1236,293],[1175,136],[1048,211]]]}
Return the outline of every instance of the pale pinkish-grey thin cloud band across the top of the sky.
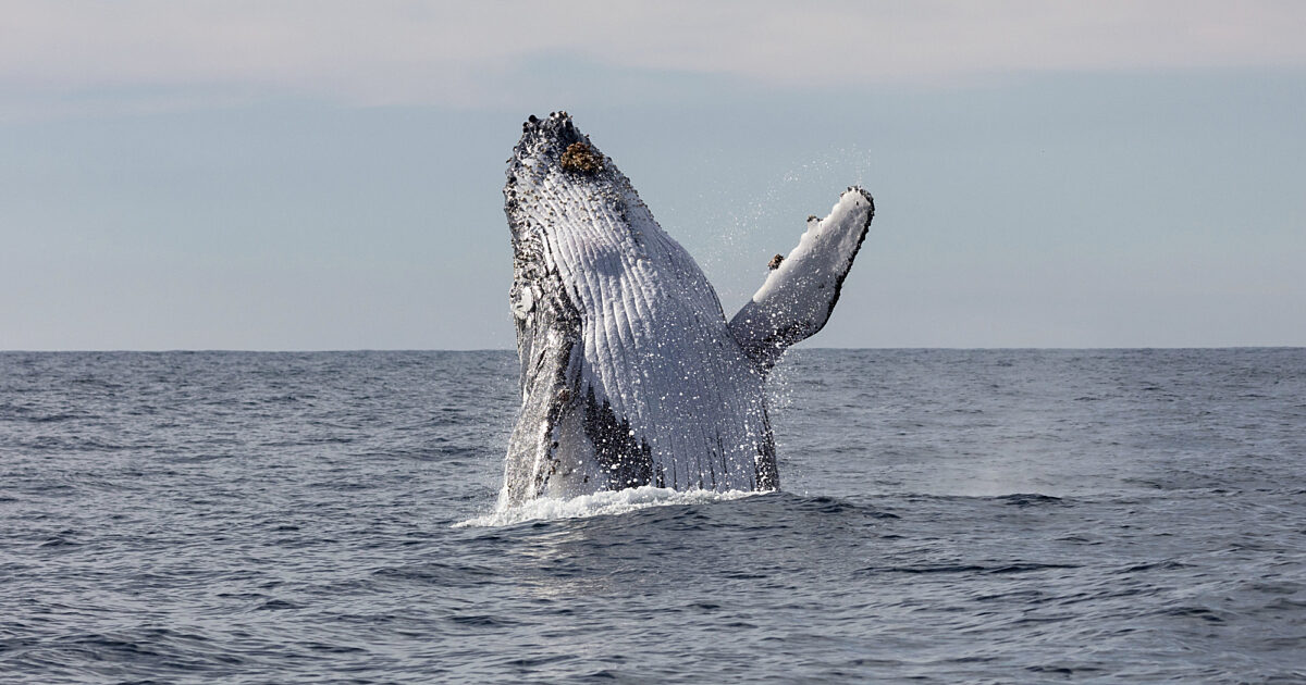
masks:
{"label": "pale pinkish-grey thin cloud band across the top of the sky", "polygon": [[213,89],[504,104],[533,60],[760,87],[1057,70],[1302,68],[1294,1],[9,3],[0,99]]}

